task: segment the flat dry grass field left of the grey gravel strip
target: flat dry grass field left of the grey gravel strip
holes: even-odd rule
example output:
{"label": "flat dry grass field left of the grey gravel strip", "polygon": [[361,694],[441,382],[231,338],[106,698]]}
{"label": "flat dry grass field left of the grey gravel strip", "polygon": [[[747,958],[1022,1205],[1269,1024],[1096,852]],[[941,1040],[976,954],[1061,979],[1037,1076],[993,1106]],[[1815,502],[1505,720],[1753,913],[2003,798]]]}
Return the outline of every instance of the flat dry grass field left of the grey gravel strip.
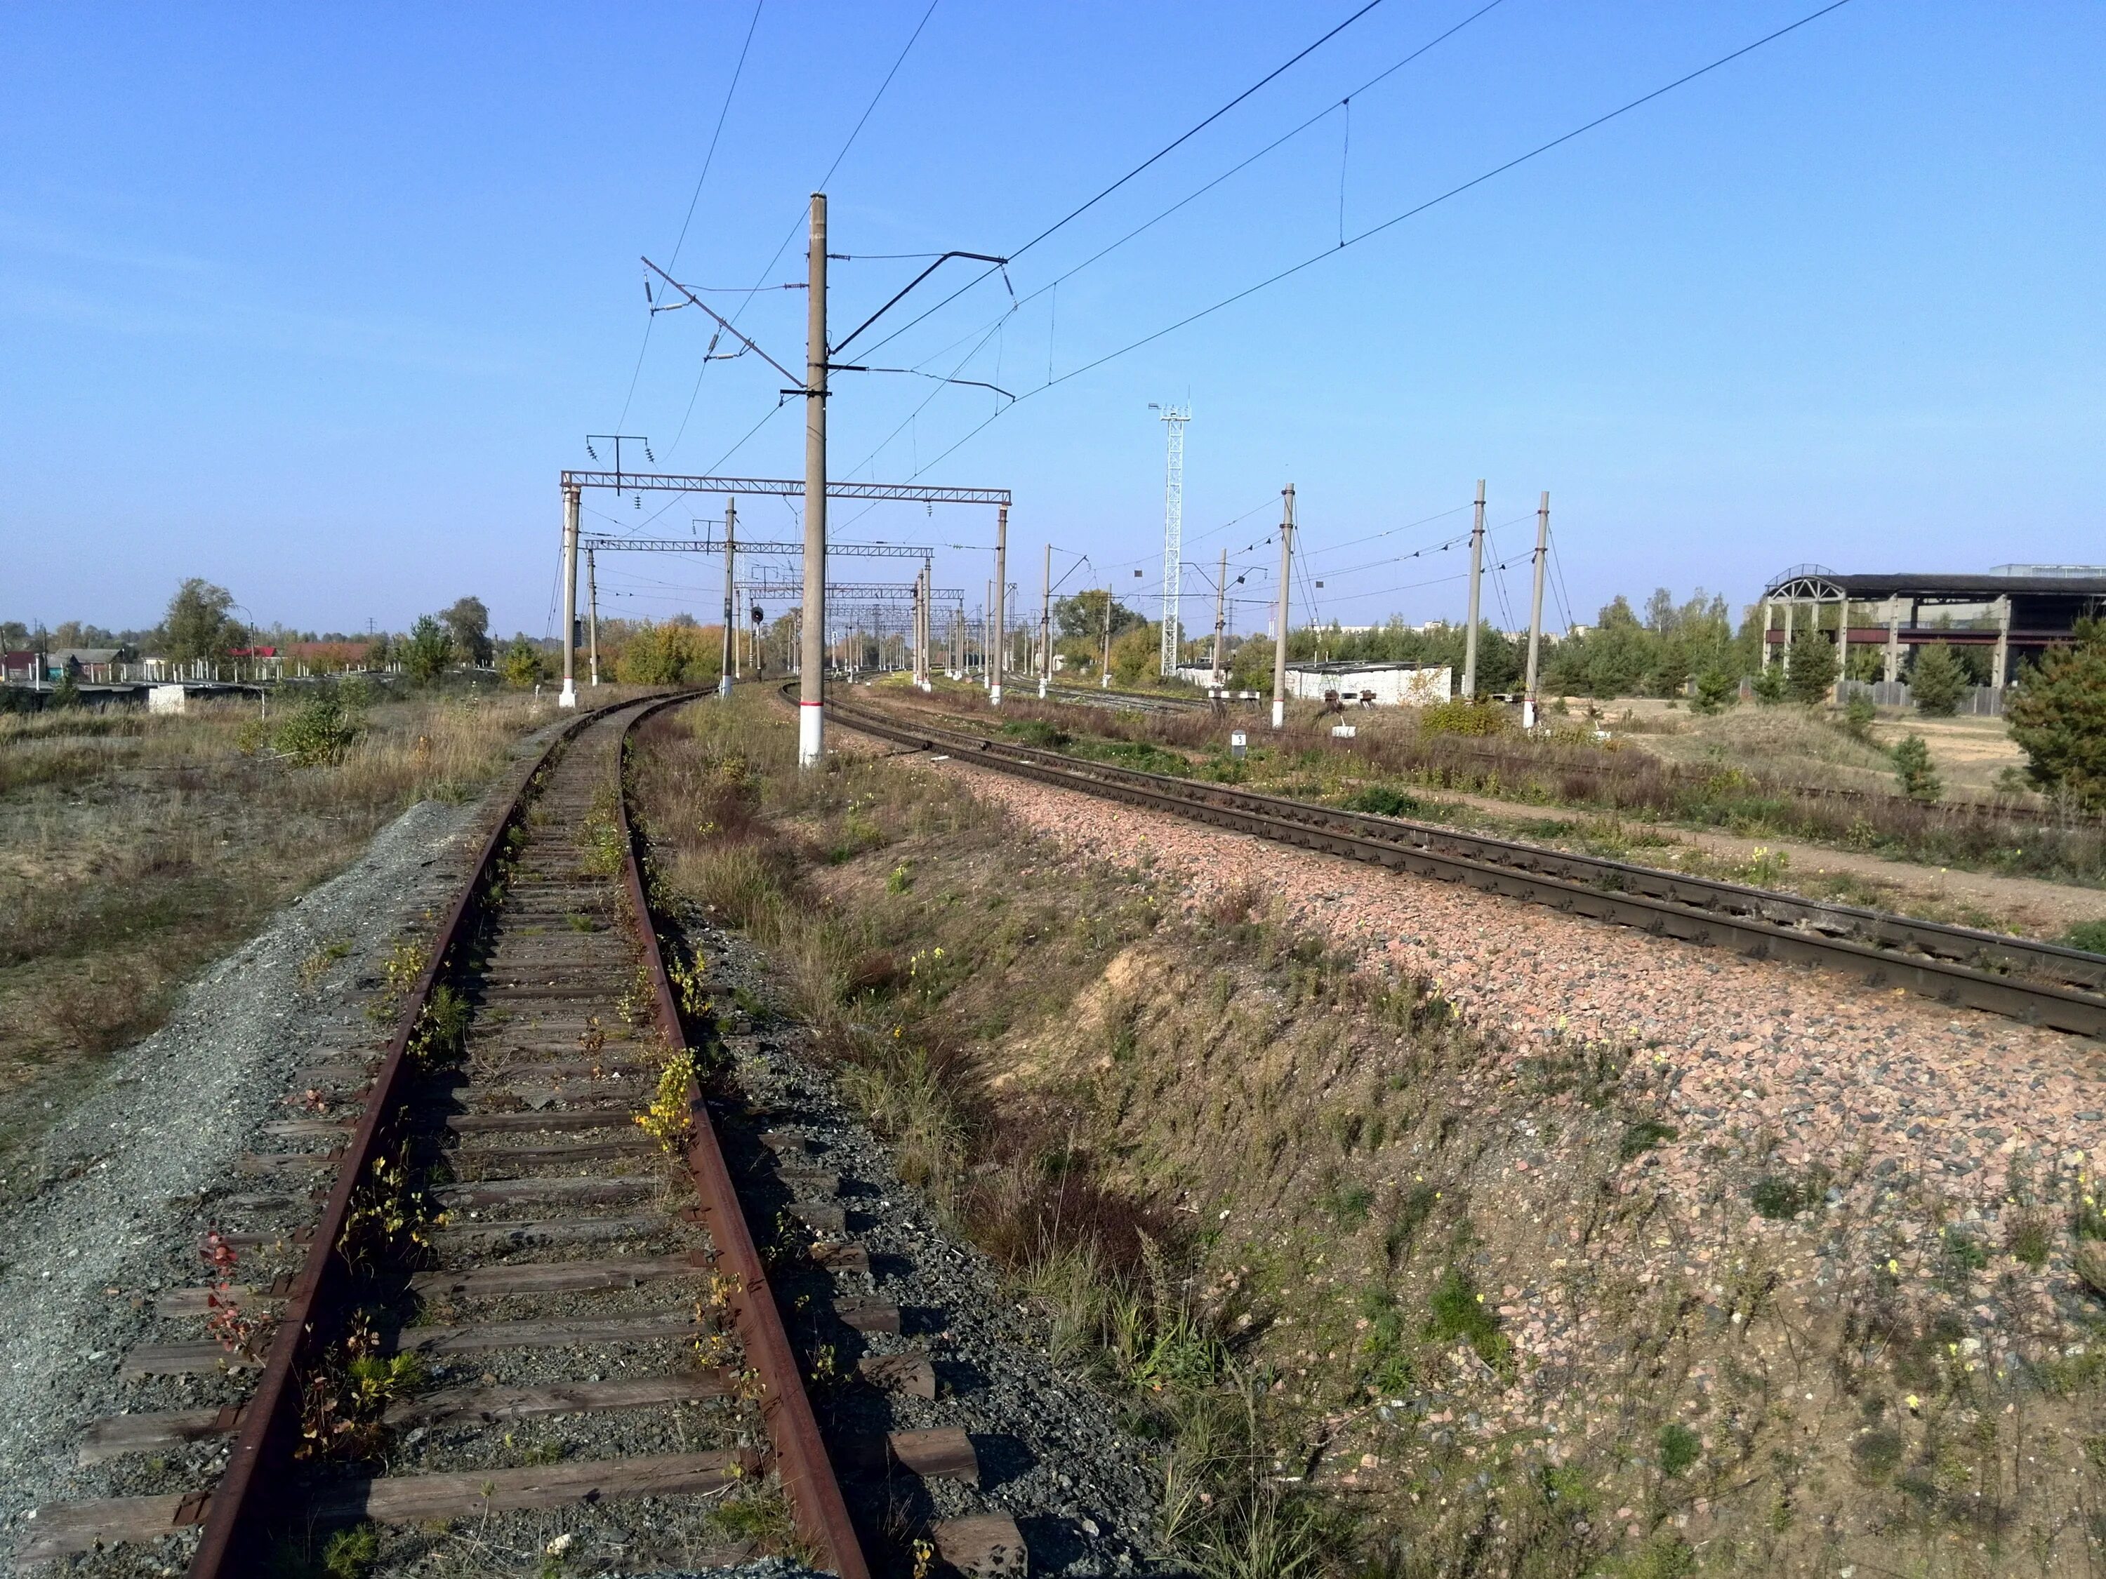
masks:
{"label": "flat dry grass field left of the grey gravel strip", "polygon": [[291,768],[255,749],[257,712],[0,716],[0,1166],[198,966],[552,718],[516,695],[390,701],[343,760]]}

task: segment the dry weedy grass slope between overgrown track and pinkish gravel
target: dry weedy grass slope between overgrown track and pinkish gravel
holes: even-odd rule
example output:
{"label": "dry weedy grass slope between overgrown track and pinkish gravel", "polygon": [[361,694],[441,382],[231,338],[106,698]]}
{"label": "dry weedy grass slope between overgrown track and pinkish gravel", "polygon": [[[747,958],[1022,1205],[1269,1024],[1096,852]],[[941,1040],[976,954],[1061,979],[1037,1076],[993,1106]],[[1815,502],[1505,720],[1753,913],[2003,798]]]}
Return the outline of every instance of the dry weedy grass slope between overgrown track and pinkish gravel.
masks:
{"label": "dry weedy grass slope between overgrown track and pinkish gravel", "polygon": [[[1817,1221],[1685,1263],[1683,1217],[1746,1221],[1775,1164],[1746,1137],[1706,1152],[1702,1200],[1662,1198],[1647,1048],[1506,1046],[1261,895],[1165,914],[1146,872],[1019,838],[939,773],[798,781],[790,737],[764,699],[659,726],[661,859],[777,952],[1055,1354],[1125,1390],[1194,1571],[2091,1573],[2106,1366],[1992,1375],[1950,1326],[2030,1274],[2030,1234],[2062,1244],[2060,1194],[1950,1288],[1834,1259]],[[1552,1312],[1567,1337],[1523,1343]]]}

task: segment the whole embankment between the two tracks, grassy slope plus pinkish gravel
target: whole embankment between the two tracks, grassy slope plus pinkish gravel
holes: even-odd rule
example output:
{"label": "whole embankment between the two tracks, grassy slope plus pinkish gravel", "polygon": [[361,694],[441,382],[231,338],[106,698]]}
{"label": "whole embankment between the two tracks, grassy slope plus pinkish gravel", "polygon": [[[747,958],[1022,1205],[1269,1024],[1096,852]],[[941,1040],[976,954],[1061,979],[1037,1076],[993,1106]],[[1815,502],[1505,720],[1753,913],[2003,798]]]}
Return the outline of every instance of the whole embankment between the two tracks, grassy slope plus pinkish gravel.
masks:
{"label": "whole embankment between the two tracks, grassy slope plus pinkish gravel", "polygon": [[1127,1390],[1169,1550],[2095,1558],[2095,1042],[764,731],[670,870]]}

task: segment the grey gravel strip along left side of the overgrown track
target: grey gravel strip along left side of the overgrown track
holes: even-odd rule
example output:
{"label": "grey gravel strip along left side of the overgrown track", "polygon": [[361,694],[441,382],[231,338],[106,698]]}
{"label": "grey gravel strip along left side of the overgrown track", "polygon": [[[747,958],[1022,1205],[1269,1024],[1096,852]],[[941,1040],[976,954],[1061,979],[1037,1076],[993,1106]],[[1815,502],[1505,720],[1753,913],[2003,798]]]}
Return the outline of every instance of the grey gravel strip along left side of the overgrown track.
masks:
{"label": "grey gravel strip along left side of the overgrown track", "polygon": [[295,1076],[383,1044],[360,1013],[379,956],[459,886],[478,823],[474,806],[402,813],[114,1055],[44,1139],[38,1183],[0,1217],[0,1560],[40,1503],[116,1495],[74,1448],[91,1419],[139,1406],[118,1364],[156,1291],[204,1282],[204,1232],[259,1190],[236,1158],[270,1145],[259,1126],[289,1116]]}

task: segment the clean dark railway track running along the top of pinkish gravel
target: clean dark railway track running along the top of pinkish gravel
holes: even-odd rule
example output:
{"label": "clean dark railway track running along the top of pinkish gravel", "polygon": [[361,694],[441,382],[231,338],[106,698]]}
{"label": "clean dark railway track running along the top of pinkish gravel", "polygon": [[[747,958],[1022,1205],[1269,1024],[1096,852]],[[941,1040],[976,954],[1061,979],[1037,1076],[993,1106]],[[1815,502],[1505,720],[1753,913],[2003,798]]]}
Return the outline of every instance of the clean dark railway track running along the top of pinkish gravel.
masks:
{"label": "clean dark railway track running along the top of pinkish gravel", "polygon": [[2106,956],[2100,954],[1085,762],[1059,752],[935,728],[859,703],[828,705],[842,724],[878,739],[946,752],[1038,783],[1443,882],[1464,882],[1567,914],[1636,926],[1655,937],[1847,971],[1866,985],[1904,987],[1946,1004],[2081,1036],[2106,1036]]}

